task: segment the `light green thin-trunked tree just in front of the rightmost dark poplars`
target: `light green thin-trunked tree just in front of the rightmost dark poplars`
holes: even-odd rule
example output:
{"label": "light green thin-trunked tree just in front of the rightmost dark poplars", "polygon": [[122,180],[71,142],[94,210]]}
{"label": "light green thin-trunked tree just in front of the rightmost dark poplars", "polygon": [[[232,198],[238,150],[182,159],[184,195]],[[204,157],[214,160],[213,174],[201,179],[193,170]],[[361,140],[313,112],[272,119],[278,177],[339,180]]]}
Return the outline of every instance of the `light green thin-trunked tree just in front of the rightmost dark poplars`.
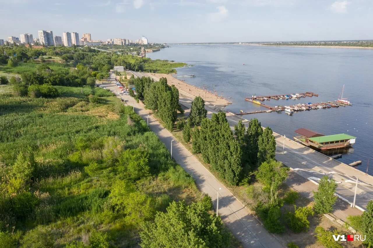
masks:
{"label": "light green thin-trunked tree just in front of the rightmost dark poplars", "polygon": [[278,187],[288,177],[288,167],[284,167],[281,162],[267,160],[263,162],[256,172],[256,178],[263,184],[264,191],[270,195],[270,204],[277,204]]}

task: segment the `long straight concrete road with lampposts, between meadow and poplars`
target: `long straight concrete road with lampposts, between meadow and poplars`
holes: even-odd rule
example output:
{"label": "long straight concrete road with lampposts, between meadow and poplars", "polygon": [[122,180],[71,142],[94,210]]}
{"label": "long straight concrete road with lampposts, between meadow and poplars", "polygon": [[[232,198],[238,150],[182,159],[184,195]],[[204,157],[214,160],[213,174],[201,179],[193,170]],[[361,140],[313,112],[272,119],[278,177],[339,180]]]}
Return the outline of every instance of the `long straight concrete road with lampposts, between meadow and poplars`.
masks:
{"label": "long straight concrete road with lampposts, between meadow and poplars", "polygon": [[[110,73],[113,76],[113,73]],[[105,87],[117,92],[114,83],[105,84]],[[141,104],[133,101],[131,96],[124,96],[128,105],[134,106],[135,111],[145,122],[149,110],[144,109]],[[191,175],[197,187],[205,194],[208,194],[216,210],[217,190],[219,190],[219,215],[224,223],[231,230],[233,235],[242,242],[244,247],[284,247],[272,234],[268,233],[263,225],[249,213],[247,209],[229,192],[182,144],[178,143],[175,137],[163,126],[149,116],[149,127],[157,134],[159,139],[166,145],[167,149],[171,148],[171,140],[175,140],[172,146],[172,155],[189,175]]]}

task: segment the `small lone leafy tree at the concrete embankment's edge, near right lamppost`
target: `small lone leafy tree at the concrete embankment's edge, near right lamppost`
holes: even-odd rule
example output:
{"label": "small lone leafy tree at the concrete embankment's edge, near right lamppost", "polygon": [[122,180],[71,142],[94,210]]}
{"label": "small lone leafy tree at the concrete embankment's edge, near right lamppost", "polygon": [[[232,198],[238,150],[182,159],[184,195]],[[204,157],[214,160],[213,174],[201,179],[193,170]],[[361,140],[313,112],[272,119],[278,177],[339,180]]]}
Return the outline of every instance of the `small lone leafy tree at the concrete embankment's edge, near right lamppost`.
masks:
{"label": "small lone leafy tree at the concrete embankment's edge, near right lamppost", "polygon": [[319,181],[317,191],[313,192],[314,209],[319,214],[329,213],[333,210],[337,197],[334,195],[337,183],[333,178],[323,176]]}

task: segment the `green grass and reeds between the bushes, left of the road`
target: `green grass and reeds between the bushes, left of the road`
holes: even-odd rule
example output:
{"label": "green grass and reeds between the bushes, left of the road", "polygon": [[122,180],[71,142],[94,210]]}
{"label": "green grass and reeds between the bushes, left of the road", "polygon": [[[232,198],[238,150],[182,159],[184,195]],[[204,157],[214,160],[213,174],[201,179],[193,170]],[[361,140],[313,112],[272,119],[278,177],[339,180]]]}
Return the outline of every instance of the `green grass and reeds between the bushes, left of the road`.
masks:
{"label": "green grass and reeds between the bushes, left of the road", "polygon": [[[99,201],[92,196],[110,190],[123,175],[115,166],[101,166],[95,177],[82,169],[90,161],[101,159],[103,140],[109,136],[119,139],[123,149],[142,147],[150,153],[152,175],[134,184],[154,199],[157,210],[164,211],[169,200],[190,203],[201,197],[193,180],[170,160],[164,144],[132,109],[120,113],[122,105],[116,98],[93,104],[85,97],[89,93],[108,96],[110,92],[83,88],[82,95],[81,88],[59,90],[63,97],[56,99],[0,97],[0,161],[9,168],[18,152],[29,145],[44,166],[44,175],[31,188],[40,204],[26,220],[17,222],[16,230],[24,234],[41,225],[51,230],[57,246],[84,240],[94,229],[108,232],[115,245],[137,244],[137,226],[122,212],[110,210],[107,198]],[[90,148],[83,152],[82,162],[71,163],[77,137],[88,140]],[[80,208],[83,198],[97,206]]]}

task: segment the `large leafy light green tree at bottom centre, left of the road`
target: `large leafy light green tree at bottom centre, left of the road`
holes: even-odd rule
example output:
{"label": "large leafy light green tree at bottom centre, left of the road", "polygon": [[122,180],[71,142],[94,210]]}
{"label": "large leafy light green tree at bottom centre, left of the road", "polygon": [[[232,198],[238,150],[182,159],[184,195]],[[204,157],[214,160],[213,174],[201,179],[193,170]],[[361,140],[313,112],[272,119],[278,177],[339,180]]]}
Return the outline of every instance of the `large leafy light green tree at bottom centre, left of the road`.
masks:
{"label": "large leafy light green tree at bottom centre, left of the road", "polygon": [[230,235],[220,217],[210,214],[210,197],[186,205],[173,201],[167,212],[158,212],[140,232],[141,247],[229,247]]}

